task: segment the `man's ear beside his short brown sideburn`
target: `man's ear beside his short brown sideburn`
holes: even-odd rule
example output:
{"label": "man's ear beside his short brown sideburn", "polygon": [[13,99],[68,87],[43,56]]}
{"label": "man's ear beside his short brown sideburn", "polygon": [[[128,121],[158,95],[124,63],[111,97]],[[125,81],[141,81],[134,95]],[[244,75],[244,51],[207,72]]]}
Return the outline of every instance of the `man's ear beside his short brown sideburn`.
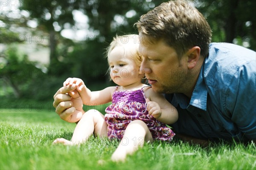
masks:
{"label": "man's ear beside his short brown sideburn", "polygon": [[199,58],[200,58],[200,47],[195,46],[187,51],[186,56],[188,57],[187,65],[188,69],[192,69],[196,66]]}

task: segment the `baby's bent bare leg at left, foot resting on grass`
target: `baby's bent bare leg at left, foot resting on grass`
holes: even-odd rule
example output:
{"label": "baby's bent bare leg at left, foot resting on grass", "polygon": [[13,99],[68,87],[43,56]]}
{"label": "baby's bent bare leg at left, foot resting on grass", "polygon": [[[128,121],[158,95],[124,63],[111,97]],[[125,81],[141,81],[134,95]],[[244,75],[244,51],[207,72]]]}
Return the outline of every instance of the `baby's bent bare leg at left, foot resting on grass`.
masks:
{"label": "baby's bent bare leg at left, foot resting on grass", "polygon": [[97,110],[89,110],[84,113],[76,128],[74,130],[71,141],[66,139],[55,139],[53,143],[63,143],[63,144],[81,144],[86,142],[86,140],[93,134],[99,136],[108,136],[107,128],[108,125],[105,122],[104,116]]}

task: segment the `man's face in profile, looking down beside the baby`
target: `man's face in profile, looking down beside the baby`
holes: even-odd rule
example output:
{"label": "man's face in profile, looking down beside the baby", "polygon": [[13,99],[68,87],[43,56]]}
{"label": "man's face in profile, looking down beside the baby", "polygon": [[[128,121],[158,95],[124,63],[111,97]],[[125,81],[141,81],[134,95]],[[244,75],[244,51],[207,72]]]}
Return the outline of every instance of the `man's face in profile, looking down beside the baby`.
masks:
{"label": "man's face in profile, looking down beside the baby", "polygon": [[186,57],[178,58],[174,48],[163,40],[139,46],[143,62],[140,69],[145,72],[148,83],[157,93],[183,93],[186,88]]}

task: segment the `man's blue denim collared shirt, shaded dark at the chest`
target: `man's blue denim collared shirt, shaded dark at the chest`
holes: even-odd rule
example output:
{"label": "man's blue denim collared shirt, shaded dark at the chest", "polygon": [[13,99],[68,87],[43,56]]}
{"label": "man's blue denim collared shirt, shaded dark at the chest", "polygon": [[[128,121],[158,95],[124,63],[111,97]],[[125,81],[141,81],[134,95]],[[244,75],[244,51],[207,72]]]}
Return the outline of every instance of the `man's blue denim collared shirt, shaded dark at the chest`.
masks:
{"label": "man's blue denim collared shirt, shaded dark at the chest", "polygon": [[165,96],[179,112],[171,125],[176,133],[212,140],[256,139],[256,52],[211,43],[191,99]]}

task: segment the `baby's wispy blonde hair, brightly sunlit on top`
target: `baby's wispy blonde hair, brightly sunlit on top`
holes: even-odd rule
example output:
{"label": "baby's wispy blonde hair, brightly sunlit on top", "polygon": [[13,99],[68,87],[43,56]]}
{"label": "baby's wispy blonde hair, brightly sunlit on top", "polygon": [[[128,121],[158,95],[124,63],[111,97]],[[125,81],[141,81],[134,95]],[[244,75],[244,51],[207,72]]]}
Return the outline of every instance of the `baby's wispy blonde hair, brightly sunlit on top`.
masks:
{"label": "baby's wispy blonde hair, brightly sunlit on top", "polygon": [[[137,34],[128,34],[128,35],[122,35],[122,36],[116,35],[115,37],[113,37],[113,40],[110,43],[110,45],[106,48],[106,58],[108,59],[111,51],[114,48],[118,46],[122,46],[124,48],[124,57],[129,50],[129,52],[131,52],[131,56],[129,57],[131,57],[136,63],[136,65],[140,67],[142,63],[142,56],[139,53],[139,43],[140,43],[139,37],[140,36]],[[134,47],[132,51],[131,51],[131,48],[128,48],[128,47],[131,47],[131,45]],[[108,62],[109,62],[109,59],[108,59]],[[108,75],[109,73],[110,73],[110,69],[108,69]]]}

